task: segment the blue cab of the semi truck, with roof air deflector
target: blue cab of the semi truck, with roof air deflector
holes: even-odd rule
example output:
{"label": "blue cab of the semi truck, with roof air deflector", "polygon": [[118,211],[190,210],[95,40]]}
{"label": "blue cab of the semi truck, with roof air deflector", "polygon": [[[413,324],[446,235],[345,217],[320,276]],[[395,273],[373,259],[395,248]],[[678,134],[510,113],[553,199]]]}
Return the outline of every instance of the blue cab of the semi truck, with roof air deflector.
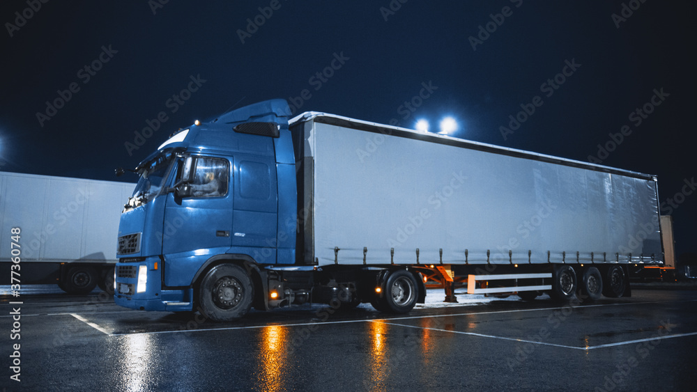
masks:
{"label": "blue cab of the semi truck, with roof air deflector", "polygon": [[137,166],[118,229],[116,304],[195,311],[200,303],[219,319],[252,302],[268,307],[261,290],[253,294],[268,284],[263,266],[296,262],[289,116],[284,100],[270,100],[197,121]]}

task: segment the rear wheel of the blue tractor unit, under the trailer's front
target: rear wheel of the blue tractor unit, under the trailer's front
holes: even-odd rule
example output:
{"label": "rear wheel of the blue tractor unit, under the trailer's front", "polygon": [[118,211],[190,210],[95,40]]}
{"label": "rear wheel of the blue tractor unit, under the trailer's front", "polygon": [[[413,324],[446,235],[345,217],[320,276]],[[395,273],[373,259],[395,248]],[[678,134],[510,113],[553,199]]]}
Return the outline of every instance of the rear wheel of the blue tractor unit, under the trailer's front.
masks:
{"label": "rear wheel of the blue tractor unit, under the trailer's front", "polygon": [[373,307],[385,313],[408,313],[416,305],[418,287],[416,278],[410,272],[404,269],[392,272]]}

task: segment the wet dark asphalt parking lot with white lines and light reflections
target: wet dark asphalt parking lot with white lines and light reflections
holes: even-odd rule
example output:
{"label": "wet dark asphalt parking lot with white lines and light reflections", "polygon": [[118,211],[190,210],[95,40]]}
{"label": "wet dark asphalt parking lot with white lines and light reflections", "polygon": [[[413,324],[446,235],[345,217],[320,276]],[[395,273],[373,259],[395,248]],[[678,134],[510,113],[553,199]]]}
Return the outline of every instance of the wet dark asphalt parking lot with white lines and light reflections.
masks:
{"label": "wet dark asphalt parking lot with white lines and light reflections", "polygon": [[[697,382],[695,290],[399,316],[304,306],[227,323],[131,311],[98,291],[13,300],[0,301],[3,391],[694,391]],[[20,382],[10,379],[15,351]]]}

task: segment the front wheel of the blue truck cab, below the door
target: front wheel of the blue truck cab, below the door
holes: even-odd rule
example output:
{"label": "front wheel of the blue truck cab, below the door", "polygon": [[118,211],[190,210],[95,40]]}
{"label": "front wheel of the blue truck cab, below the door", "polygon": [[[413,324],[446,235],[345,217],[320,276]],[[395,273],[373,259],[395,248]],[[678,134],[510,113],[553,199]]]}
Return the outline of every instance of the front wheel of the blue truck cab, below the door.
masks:
{"label": "front wheel of the blue truck cab, below the door", "polygon": [[230,321],[243,317],[250,311],[252,299],[252,280],[237,265],[213,267],[199,285],[200,310],[210,320]]}

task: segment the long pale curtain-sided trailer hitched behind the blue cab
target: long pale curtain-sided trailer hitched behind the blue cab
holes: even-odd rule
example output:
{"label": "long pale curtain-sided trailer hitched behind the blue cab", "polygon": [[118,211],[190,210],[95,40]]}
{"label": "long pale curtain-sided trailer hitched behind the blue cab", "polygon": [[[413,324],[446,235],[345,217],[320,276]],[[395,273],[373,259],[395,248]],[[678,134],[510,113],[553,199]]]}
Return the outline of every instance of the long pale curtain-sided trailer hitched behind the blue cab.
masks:
{"label": "long pale curtain-sided trailer hitched behind the blue cab", "polygon": [[663,262],[654,175],[327,113],[291,131],[304,264],[410,265],[530,298],[565,276],[628,295],[629,267]]}

